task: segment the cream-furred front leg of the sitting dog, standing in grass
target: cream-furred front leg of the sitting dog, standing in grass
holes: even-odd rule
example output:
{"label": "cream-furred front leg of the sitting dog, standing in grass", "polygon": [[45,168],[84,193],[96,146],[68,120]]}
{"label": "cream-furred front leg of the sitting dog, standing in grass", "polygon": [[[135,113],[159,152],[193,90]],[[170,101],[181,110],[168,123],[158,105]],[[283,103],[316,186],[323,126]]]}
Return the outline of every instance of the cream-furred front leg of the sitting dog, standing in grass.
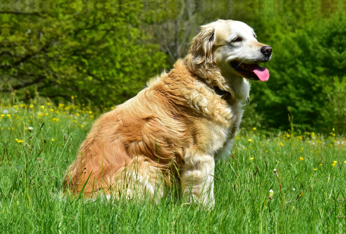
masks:
{"label": "cream-furred front leg of the sitting dog, standing in grass", "polygon": [[185,160],[180,171],[181,188],[188,201],[200,203],[204,207],[213,208],[214,201],[214,167],[212,155],[194,155]]}

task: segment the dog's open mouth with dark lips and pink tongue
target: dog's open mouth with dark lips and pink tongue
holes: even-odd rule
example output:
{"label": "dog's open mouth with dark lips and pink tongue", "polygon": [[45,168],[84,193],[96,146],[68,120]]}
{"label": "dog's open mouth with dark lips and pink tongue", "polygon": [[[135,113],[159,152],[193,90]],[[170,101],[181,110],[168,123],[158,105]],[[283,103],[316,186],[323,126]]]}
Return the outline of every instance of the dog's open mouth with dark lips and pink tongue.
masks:
{"label": "dog's open mouth with dark lips and pink tongue", "polygon": [[240,72],[244,78],[261,81],[267,81],[269,79],[268,69],[260,67],[257,64],[244,64],[238,61],[231,61],[230,65],[234,70]]}

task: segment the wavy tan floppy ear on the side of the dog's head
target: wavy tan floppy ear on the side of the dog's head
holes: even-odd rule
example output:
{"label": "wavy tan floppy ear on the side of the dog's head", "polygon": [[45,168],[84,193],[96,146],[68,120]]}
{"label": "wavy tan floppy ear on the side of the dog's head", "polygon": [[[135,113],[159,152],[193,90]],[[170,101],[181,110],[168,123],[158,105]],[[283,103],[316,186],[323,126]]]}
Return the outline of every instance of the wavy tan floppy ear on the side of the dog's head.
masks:
{"label": "wavy tan floppy ear on the side of the dog's head", "polygon": [[212,48],[215,41],[215,29],[210,25],[201,26],[198,34],[192,39],[190,53],[195,64],[211,63]]}

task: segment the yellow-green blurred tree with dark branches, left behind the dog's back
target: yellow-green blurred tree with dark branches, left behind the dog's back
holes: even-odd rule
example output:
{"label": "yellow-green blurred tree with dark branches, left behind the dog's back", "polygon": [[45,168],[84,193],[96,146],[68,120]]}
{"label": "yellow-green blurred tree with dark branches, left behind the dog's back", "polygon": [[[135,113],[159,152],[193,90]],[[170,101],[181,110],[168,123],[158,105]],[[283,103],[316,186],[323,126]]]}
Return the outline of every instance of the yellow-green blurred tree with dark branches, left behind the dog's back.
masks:
{"label": "yellow-green blurred tree with dark branches, left behind the dog's back", "polygon": [[0,12],[1,92],[78,95],[111,106],[136,95],[165,66],[165,54],[140,28],[142,1],[25,3],[11,1]]}

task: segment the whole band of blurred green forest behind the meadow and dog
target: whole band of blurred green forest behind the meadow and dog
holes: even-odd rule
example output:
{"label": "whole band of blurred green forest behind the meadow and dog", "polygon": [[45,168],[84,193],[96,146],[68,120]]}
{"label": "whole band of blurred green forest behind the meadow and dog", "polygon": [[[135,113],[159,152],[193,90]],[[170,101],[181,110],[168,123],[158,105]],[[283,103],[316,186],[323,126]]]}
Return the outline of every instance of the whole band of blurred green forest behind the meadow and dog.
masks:
{"label": "whole band of blurred green forest behind the meadow and dog", "polygon": [[344,0],[1,0],[0,105],[104,110],[171,69],[200,25],[233,19],[273,48],[242,126],[345,134],[345,12]]}

